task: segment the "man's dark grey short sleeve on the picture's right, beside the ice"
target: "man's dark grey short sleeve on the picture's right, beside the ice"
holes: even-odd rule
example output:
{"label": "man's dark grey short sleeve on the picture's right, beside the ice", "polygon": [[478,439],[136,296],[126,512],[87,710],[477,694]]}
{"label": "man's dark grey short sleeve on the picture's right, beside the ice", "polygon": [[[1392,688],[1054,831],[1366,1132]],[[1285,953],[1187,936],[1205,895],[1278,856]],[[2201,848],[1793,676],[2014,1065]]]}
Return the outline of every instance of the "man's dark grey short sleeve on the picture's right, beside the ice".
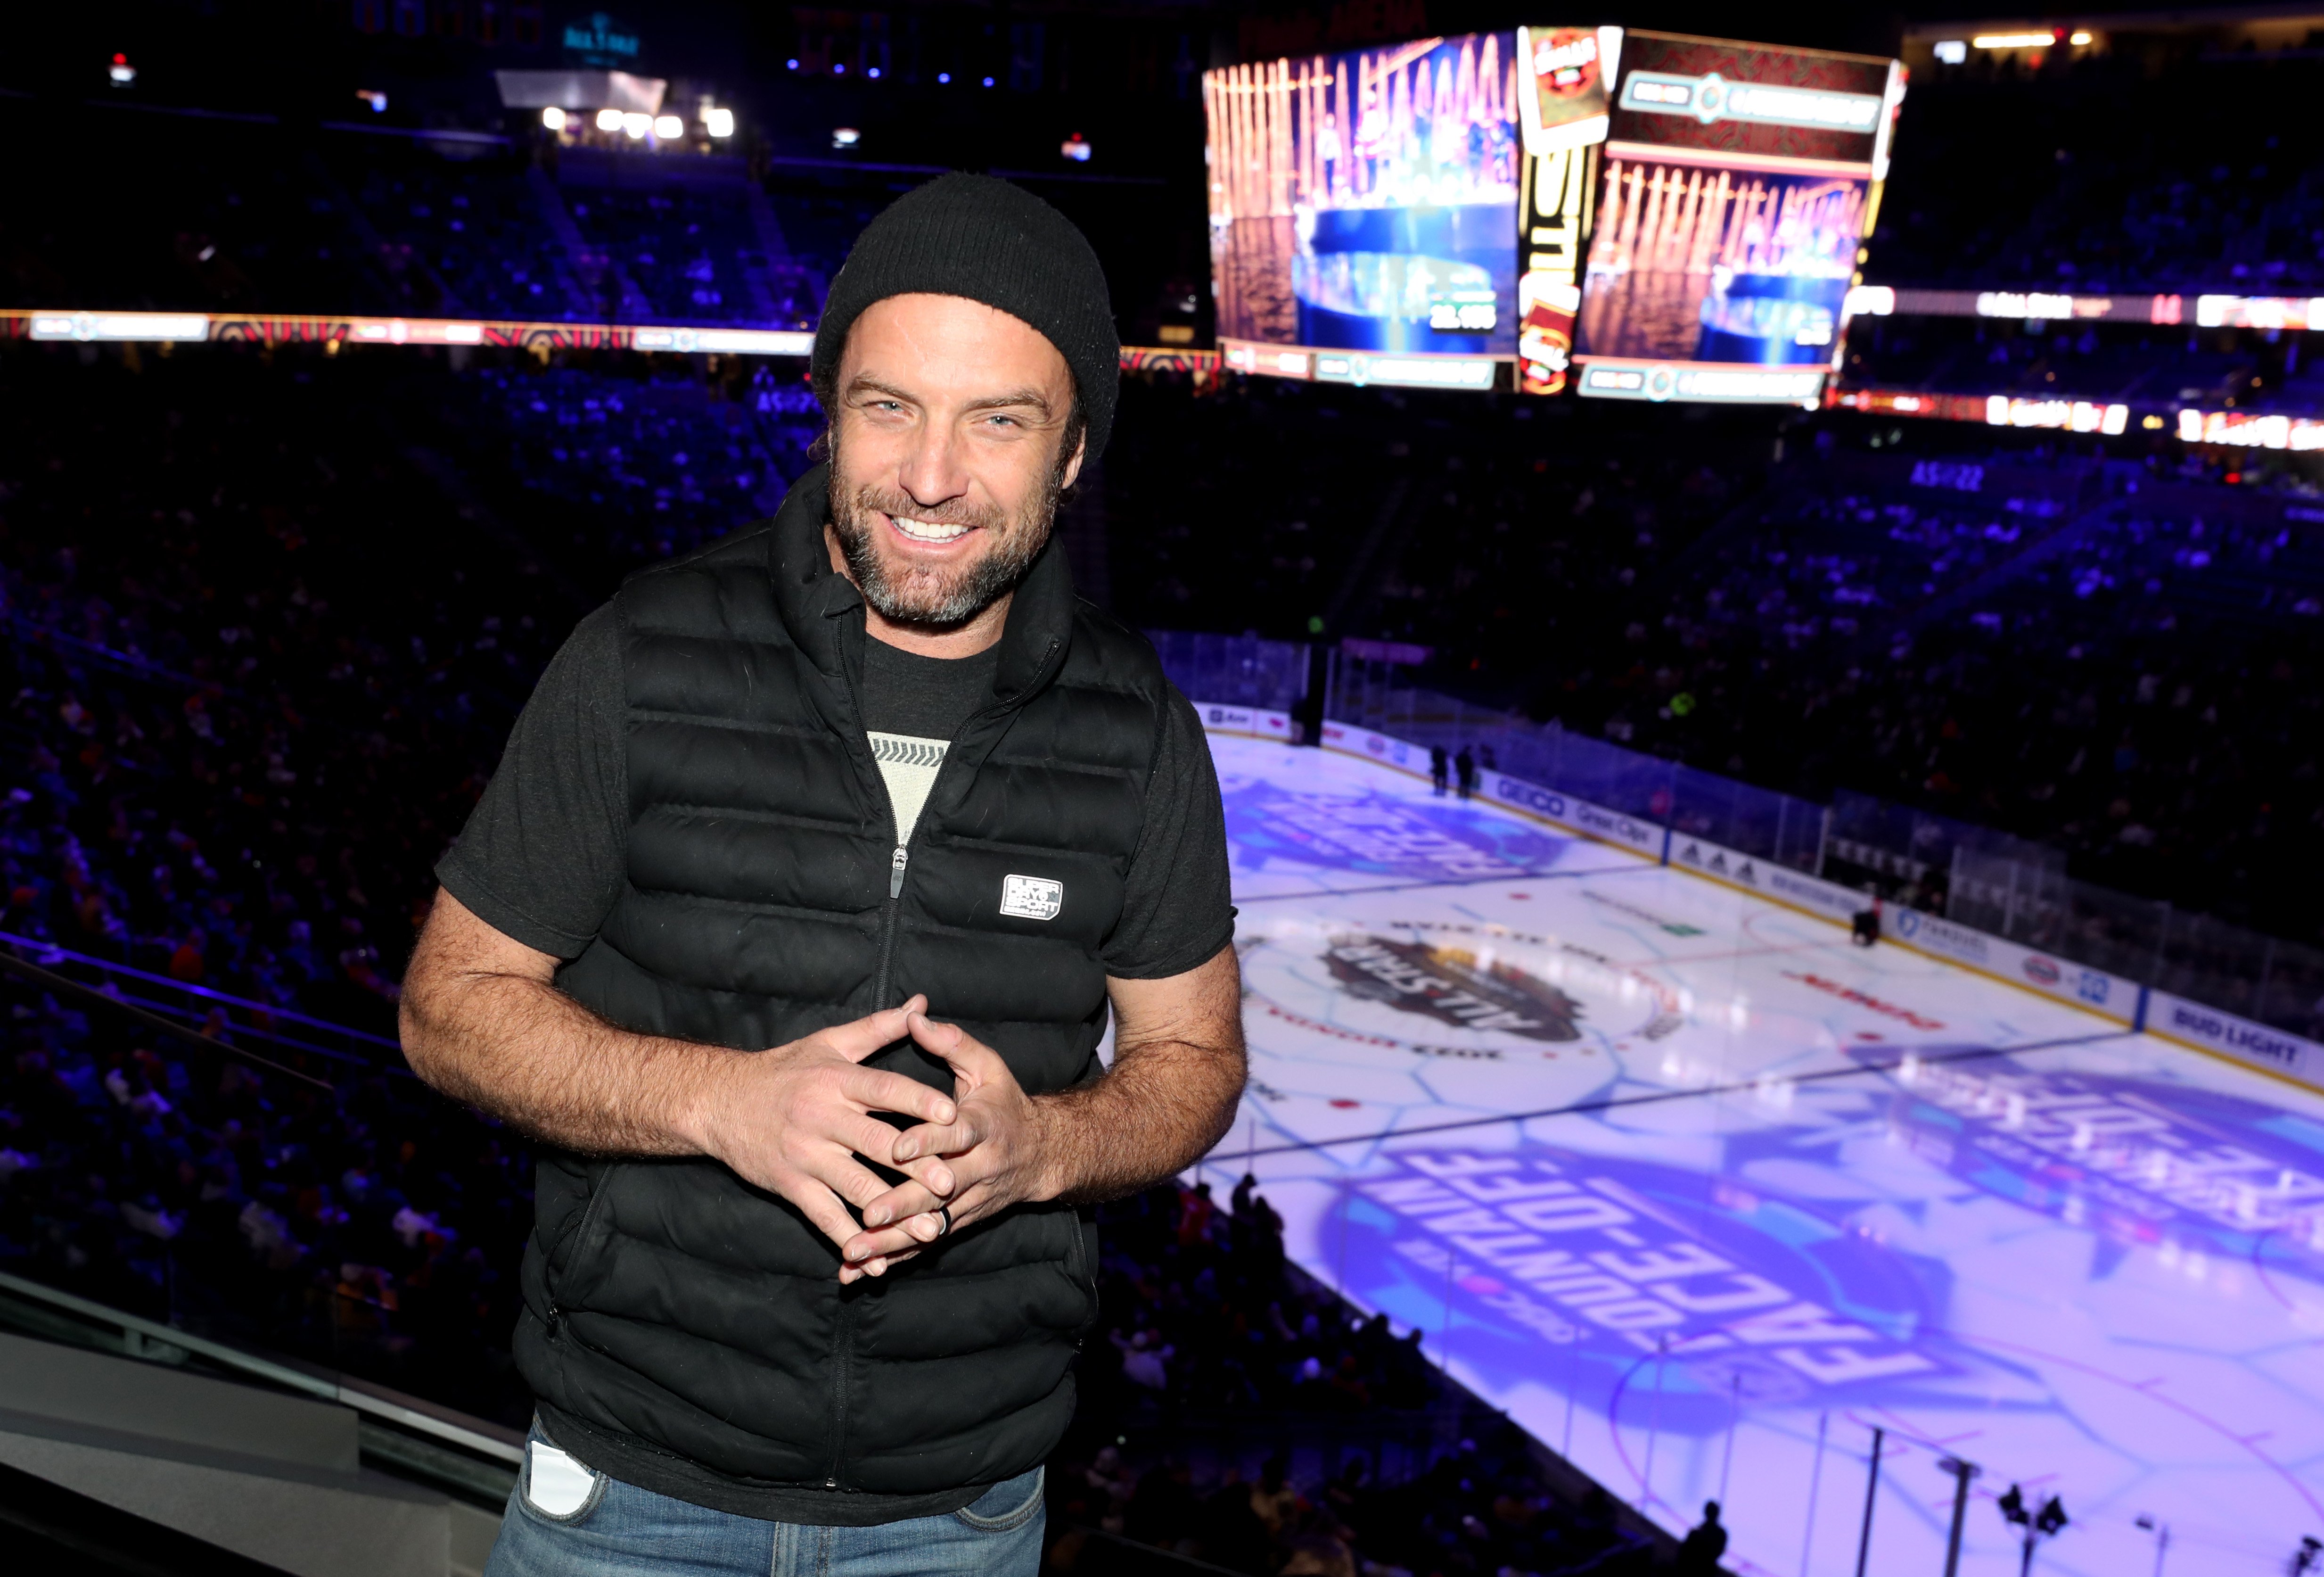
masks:
{"label": "man's dark grey short sleeve on the picture's right, beside the ice", "polygon": [[1155,772],[1146,791],[1146,835],[1129,861],[1122,919],[1106,940],[1106,975],[1169,979],[1234,942],[1227,875],[1227,812],[1202,719],[1178,686],[1169,691]]}

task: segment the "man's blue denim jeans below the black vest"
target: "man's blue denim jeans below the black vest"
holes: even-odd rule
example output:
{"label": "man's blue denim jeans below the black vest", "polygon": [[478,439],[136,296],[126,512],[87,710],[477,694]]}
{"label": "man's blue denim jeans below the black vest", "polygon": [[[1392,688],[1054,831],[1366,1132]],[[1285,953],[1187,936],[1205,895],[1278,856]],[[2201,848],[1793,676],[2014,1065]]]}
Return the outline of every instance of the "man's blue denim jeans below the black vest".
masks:
{"label": "man's blue denim jeans below the black vest", "polygon": [[[532,1442],[541,1442],[539,1430]],[[941,1517],[811,1528],[672,1500],[579,1463],[565,1468],[565,1484],[544,1482],[548,1505],[572,1505],[553,1514],[532,1498],[532,1442],[486,1577],[1037,1577],[1041,1570],[1039,1468]],[[586,1489],[572,1482],[574,1470],[588,1472]]]}

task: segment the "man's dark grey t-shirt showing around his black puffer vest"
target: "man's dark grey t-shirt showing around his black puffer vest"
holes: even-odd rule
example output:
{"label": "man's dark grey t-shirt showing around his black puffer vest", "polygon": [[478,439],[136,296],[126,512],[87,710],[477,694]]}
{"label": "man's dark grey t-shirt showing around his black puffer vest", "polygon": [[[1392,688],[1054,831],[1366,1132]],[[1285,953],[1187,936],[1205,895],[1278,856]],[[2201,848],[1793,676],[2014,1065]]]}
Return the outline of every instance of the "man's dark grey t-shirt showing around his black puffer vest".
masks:
{"label": "man's dark grey t-shirt showing around his black puffer vest", "polygon": [[[948,742],[990,705],[997,661],[997,647],[927,658],[867,640],[858,679],[865,726]],[[574,626],[551,658],[500,770],[437,863],[437,882],[493,930],[579,958],[621,895],[627,777],[621,623],[607,605]],[[1146,833],[1122,886],[1122,919],[1102,949],[1106,975],[1167,979],[1211,958],[1234,937],[1227,886],[1227,821],[1211,747],[1195,707],[1171,688]]]}

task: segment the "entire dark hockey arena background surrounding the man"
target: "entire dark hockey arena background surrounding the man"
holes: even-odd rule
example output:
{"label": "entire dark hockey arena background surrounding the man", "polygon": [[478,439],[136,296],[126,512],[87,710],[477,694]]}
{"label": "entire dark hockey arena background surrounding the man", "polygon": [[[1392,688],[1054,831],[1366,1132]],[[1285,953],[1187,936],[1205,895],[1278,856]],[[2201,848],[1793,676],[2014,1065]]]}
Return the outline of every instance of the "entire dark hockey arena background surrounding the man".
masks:
{"label": "entire dark hockey arena background surrounding the man", "polygon": [[2324,12],[7,30],[9,1570],[516,1570],[435,865],[974,170],[1104,265],[1048,551],[1248,1047],[1083,1207],[1039,1570],[2324,1572]]}

